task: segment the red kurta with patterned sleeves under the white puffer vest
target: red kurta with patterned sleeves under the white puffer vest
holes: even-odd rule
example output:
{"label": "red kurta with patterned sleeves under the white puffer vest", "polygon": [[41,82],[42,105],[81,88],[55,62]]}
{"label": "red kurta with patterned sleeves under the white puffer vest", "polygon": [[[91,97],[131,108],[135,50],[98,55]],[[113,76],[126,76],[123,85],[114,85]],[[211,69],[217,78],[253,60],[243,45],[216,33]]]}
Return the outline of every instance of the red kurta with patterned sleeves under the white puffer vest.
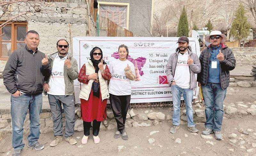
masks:
{"label": "red kurta with patterned sleeves under the white puffer vest", "polygon": [[[106,66],[104,70],[104,80],[110,80],[111,74],[109,73],[108,66]],[[88,84],[89,75],[86,74],[86,67],[85,64],[81,68],[79,74],[78,74],[78,81],[81,83]],[[100,89],[100,87],[99,87]],[[101,101],[101,92],[100,92],[100,98],[93,96],[92,90],[89,96],[88,101],[81,99],[81,114],[82,119],[85,122],[92,122],[93,120],[102,121],[103,119],[107,118],[107,99],[104,99]]]}

